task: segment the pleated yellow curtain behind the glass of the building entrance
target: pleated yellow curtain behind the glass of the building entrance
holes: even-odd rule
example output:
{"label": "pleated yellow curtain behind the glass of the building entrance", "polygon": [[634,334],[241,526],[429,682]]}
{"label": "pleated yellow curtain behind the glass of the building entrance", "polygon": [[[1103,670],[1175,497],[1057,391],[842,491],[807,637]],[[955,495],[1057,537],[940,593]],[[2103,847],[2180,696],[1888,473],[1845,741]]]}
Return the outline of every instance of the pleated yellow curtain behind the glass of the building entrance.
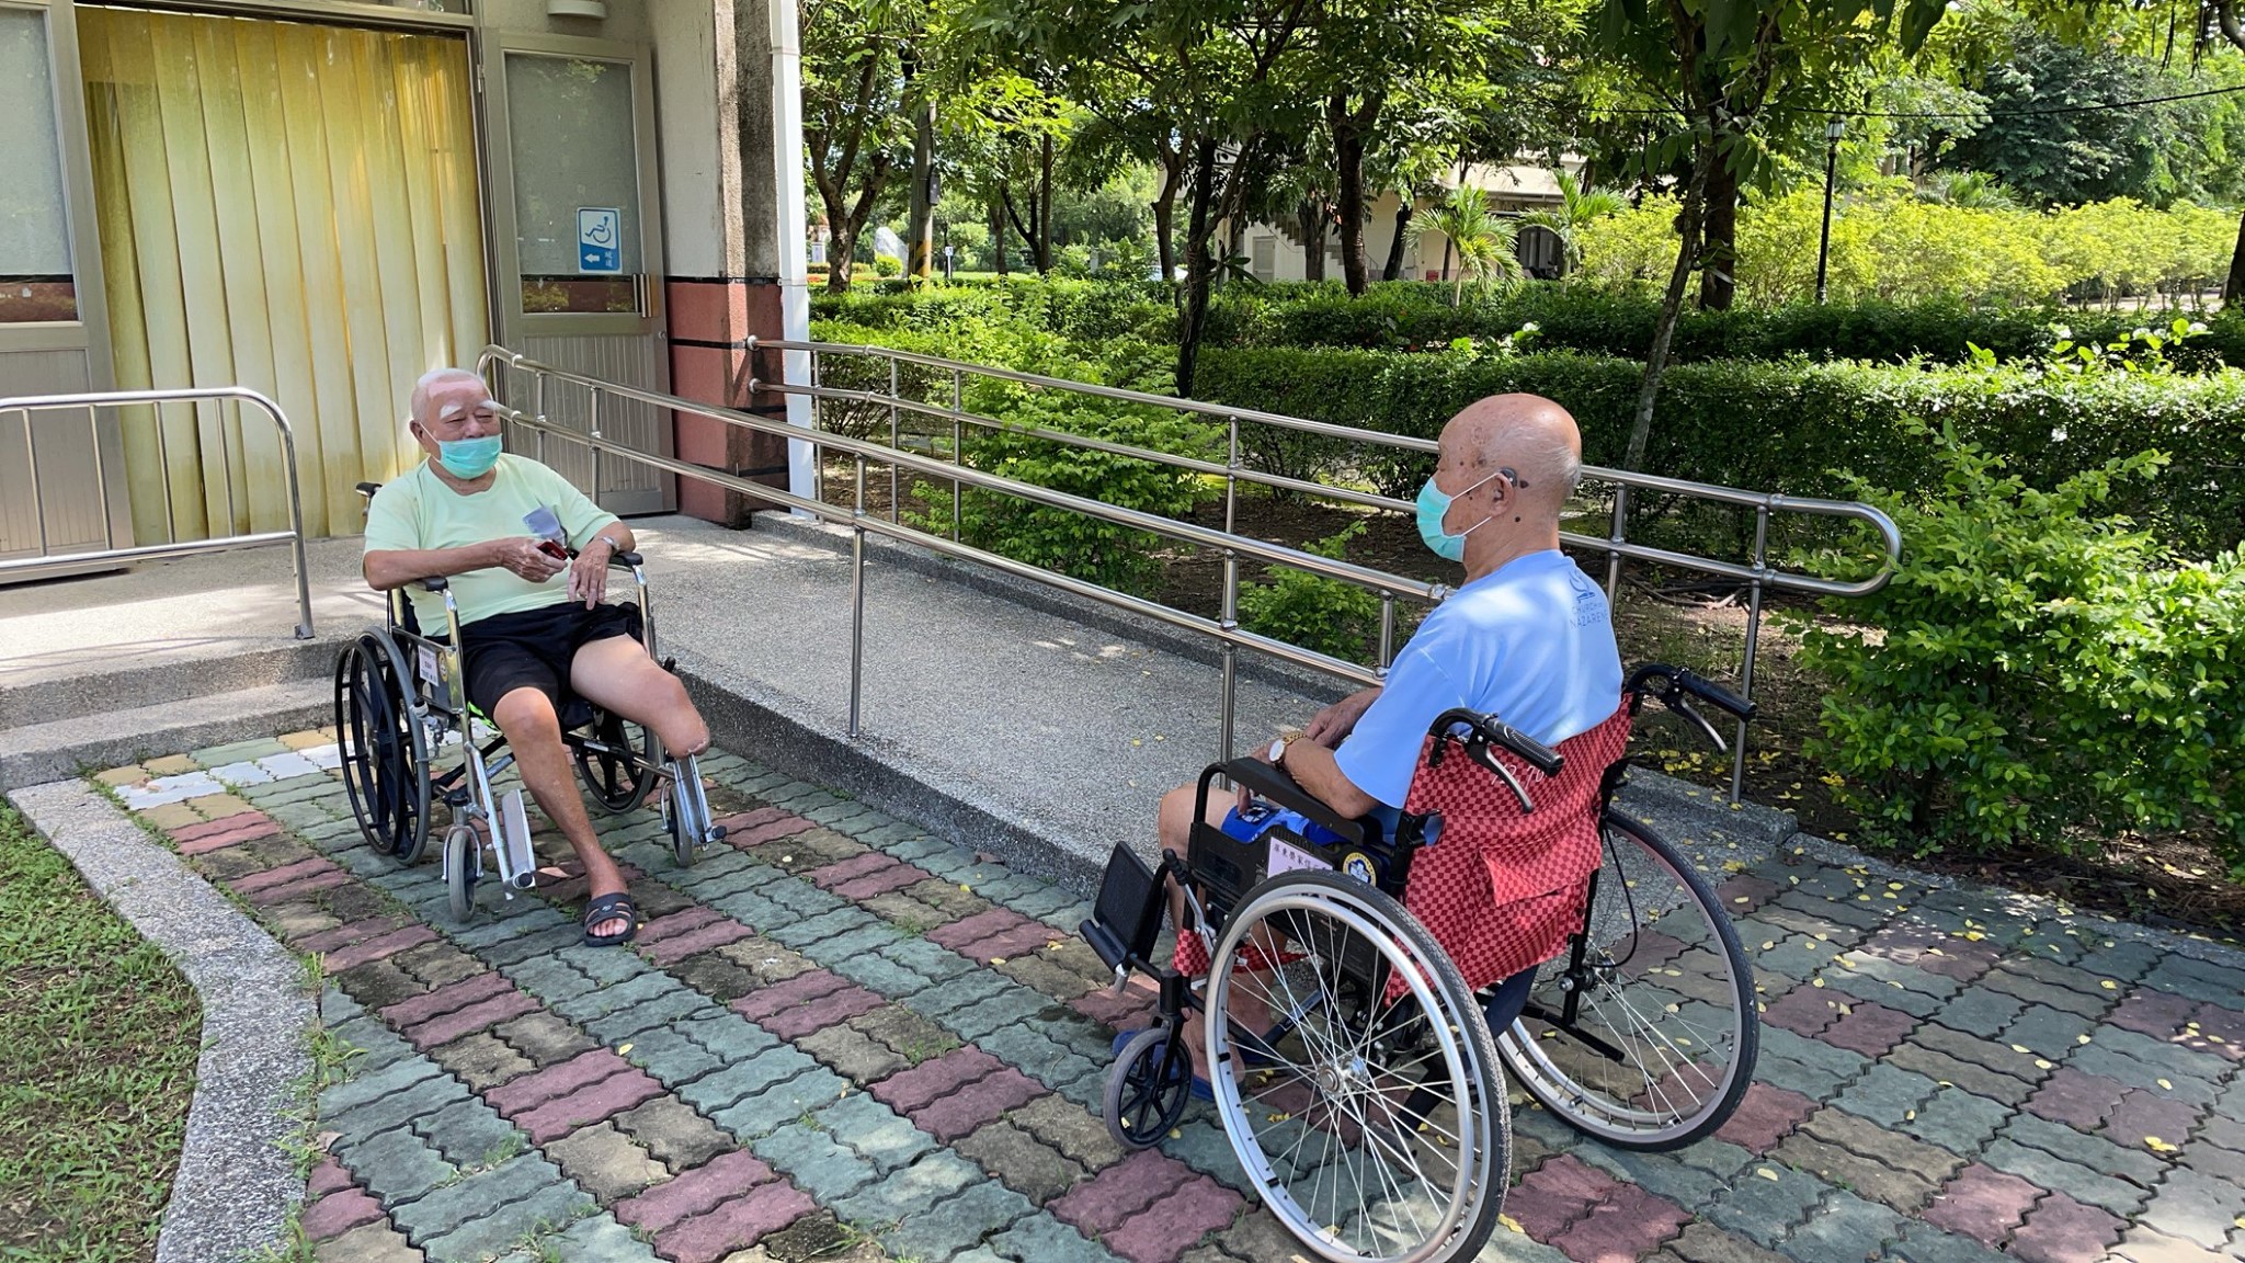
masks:
{"label": "pleated yellow curtain behind the glass of the building entrance", "polygon": [[[483,218],[467,43],[79,7],[119,389],[242,384],[296,431],[305,530],[364,528],[413,380],[474,366]],[[287,526],[233,407],[128,409],[139,542]]]}

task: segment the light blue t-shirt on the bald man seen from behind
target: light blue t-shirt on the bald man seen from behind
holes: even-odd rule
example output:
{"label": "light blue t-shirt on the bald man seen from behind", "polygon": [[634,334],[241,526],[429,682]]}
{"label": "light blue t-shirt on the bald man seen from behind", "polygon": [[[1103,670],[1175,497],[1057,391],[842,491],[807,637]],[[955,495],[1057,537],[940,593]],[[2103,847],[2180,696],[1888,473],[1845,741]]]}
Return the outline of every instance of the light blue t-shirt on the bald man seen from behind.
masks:
{"label": "light blue t-shirt on the bald man seen from behind", "polygon": [[1356,789],[1401,807],[1428,726],[1453,706],[1493,710],[1556,746],[1619,703],[1621,649],[1605,591],[1558,548],[1529,553],[1426,616],[1336,762]]}

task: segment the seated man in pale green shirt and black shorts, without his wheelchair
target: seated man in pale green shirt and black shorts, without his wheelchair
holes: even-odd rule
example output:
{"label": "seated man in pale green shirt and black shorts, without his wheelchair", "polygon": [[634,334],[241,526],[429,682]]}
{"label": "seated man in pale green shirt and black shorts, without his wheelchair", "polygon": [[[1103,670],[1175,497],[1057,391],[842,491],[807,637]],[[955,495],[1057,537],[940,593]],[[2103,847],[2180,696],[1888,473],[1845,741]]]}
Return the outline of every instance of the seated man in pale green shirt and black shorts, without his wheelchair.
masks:
{"label": "seated man in pale green shirt and black shorts, without his wheelchair", "polygon": [[[586,942],[624,944],[638,908],[577,793],[561,744],[563,690],[653,728],[676,755],[709,748],[709,726],[678,676],[640,647],[638,605],[602,605],[608,557],[631,551],[631,528],[561,474],[503,454],[498,422],[501,405],[476,373],[438,369],[413,384],[411,431],[429,458],[368,506],[364,573],[375,591],[451,580],[467,699],[507,735],[523,784],[584,863]],[[575,562],[523,526],[539,508],[559,519]],[[424,629],[445,627],[442,598],[409,598]]]}

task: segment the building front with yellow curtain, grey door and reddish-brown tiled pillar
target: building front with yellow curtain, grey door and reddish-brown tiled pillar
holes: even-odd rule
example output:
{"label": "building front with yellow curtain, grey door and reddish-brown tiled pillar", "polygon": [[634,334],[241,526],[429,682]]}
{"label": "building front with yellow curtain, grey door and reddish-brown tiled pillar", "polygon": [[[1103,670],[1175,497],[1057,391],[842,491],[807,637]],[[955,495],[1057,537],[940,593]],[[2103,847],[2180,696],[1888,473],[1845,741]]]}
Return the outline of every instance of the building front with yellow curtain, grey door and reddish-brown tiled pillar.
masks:
{"label": "building front with yellow curtain, grey door and reddish-brown tiled pillar", "polygon": [[[748,337],[808,312],[795,99],[788,0],[0,0],[0,398],[258,389],[312,535],[361,528],[355,483],[418,458],[413,380],[487,342],[743,405]],[[11,420],[0,560],[287,524],[278,436],[231,405]],[[599,427],[786,483],[718,422]],[[617,512],[745,508],[548,458]]]}

